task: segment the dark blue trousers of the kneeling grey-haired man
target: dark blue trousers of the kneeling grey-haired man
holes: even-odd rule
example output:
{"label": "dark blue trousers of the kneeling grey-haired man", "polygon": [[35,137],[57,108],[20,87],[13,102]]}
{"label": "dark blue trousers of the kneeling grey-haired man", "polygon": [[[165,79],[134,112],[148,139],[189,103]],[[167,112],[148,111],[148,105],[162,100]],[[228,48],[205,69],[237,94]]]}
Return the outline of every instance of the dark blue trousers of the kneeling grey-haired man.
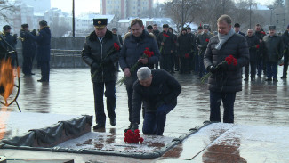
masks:
{"label": "dark blue trousers of the kneeling grey-haired man", "polygon": [[172,104],[162,105],[156,112],[146,112],[143,120],[143,134],[163,135],[165,129],[166,114],[173,110]]}

